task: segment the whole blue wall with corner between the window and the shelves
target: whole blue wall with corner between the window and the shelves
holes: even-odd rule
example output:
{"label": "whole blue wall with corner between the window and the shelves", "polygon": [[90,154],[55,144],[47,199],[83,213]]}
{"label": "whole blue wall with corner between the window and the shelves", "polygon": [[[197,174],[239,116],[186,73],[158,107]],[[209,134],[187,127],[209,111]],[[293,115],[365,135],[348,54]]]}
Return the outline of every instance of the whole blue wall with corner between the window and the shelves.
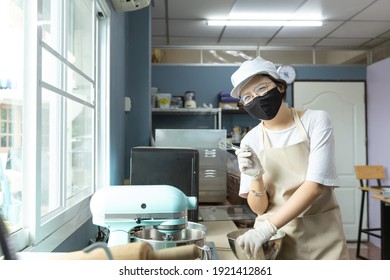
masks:
{"label": "whole blue wall with corner between the window and the shelves", "polygon": [[[150,7],[111,17],[110,184],[130,176],[130,152],[150,143]],[[125,113],[125,97],[131,111]]]}

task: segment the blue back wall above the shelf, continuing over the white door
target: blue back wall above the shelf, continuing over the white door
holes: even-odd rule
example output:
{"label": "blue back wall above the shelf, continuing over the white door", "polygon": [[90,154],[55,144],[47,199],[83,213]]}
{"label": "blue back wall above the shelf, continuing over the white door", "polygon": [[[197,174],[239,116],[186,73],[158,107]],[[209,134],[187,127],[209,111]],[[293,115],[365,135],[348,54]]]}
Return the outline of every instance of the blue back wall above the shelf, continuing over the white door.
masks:
{"label": "blue back wall above the shelf, continuing over the white door", "polygon": [[[196,92],[198,106],[203,103],[218,106],[218,93],[231,90],[230,76],[238,66],[180,66],[153,64],[152,86],[159,92],[184,95]],[[296,66],[297,80],[366,80],[366,66]],[[288,91],[288,102],[292,90]]]}

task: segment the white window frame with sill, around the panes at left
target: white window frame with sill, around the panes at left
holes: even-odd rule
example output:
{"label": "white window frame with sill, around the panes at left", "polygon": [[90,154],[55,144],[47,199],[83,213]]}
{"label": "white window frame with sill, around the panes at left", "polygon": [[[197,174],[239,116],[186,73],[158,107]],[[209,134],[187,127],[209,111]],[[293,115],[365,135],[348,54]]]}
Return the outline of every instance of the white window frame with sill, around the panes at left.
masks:
{"label": "white window frame with sill, around the panes at left", "polygon": [[[42,86],[41,26],[37,23],[39,8],[43,0],[25,0],[25,45],[26,72],[24,88],[35,88],[37,94],[26,94],[23,97],[23,135],[28,135],[28,141],[23,141],[23,228],[11,234],[14,248],[17,251],[52,251],[66,240],[82,224],[91,219],[89,209],[90,197],[98,188],[107,186],[109,182],[109,65],[110,65],[110,18],[111,11],[106,0],[91,0],[95,15],[94,28],[94,77],[95,80],[95,113],[94,137],[95,166],[94,186],[92,191],[84,195],[80,201],[71,207],[61,209],[59,213],[42,223],[40,201],[40,93]],[[60,0],[62,9],[64,1]],[[35,106],[34,106],[35,105]],[[65,128],[66,129],[66,128]],[[97,172],[103,170],[104,172]],[[33,182],[33,183],[32,183]],[[66,188],[66,185],[62,186]]]}

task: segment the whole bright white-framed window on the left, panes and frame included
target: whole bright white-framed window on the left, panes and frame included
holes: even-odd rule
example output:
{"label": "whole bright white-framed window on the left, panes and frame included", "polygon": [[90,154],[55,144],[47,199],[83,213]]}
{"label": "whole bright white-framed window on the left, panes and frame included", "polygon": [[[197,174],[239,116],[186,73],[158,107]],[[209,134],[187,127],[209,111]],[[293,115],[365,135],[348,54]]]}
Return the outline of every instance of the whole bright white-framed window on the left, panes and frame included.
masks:
{"label": "whole bright white-framed window on the left, panes and frame included", "polygon": [[108,182],[108,30],[103,0],[0,3],[0,206],[20,246],[69,235]]}

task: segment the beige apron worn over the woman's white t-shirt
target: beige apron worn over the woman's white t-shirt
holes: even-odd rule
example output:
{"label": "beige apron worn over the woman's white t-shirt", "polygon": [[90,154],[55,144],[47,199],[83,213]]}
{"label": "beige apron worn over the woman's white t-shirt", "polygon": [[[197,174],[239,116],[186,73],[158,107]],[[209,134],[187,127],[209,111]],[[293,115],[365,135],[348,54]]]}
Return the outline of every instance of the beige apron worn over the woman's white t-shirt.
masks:
{"label": "beige apron worn over the woman's white t-shirt", "polygon": [[[265,169],[264,183],[268,186],[270,204],[267,212],[256,218],[255,227],[272,216],[305,181],[309,140],[297,112],[292,110],[302,142],[271,148],[267,133],[260,125],[264,143],[260,160]],[[340,208],[332,187],[325,187],[310,207],[281,230],[286,233],[286,237],[278,259],[348,259]]]}

